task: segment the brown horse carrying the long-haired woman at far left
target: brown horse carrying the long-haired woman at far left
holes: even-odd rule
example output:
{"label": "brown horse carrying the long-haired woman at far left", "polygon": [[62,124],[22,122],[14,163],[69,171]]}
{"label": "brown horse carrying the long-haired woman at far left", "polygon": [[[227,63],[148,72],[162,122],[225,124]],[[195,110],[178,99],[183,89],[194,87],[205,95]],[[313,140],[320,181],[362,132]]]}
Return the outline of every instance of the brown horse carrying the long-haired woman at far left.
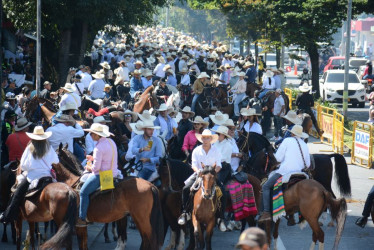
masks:
{"label": "brown horse carrying the long-haired woman at far left", "polygon": [[[18,167],[17,174],[21,174]],[[35,249],[34,232],[35,222],[48,222],[54,220],[58,231],[44,243],[42,249],[72,249],[72,233],[77,217],[77,195],[65,183],[56,182],[48,184],[39,193],[26,198],[20,207],[21,214],[16,221],[17,249],[21,249],[22,221],[26,220],[30,229],[31,248]]]}

